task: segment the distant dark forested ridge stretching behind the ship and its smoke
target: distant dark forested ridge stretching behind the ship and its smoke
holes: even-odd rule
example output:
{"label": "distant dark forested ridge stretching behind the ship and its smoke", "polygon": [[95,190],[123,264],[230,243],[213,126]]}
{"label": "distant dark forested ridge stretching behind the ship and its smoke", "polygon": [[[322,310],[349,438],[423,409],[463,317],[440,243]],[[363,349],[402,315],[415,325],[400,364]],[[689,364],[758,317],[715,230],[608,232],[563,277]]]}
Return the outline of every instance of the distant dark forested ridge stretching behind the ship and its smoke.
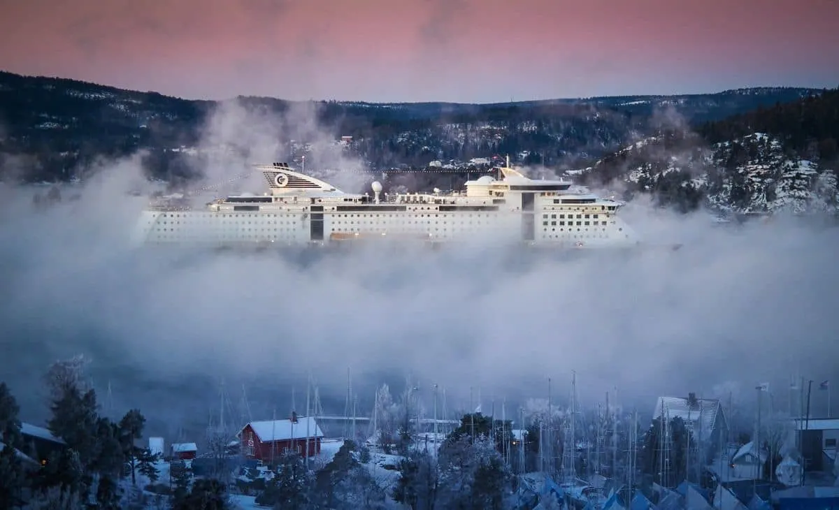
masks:
{"label": "distant dark forested ridge stretching behind the ship and its smoke", "polygon": [[[683,96],[623,96],[498,104],[367,103],[315,101],[317,121],[329,136],[352,137],[342,150],[373,169],[425,168],[432,161],[457,167],[473,158],[510,154],[520,164],[554,168],[609,154],[659,129],[675,112],[692,125],[720,120],[756,107],[794,101],[820,91],[753,88]],[[289,138],[287,154],[318,166],[317,148],[304,133],[284,125],[293,101],[239,98],[244,107],[276,118]],[[82,81],[0,72],[0,157],[13,156],[15,175],[0,180],[67,180],[98,156],[148,150],[156,176],[177,176],[195,155],[215,101],[189,101],[154,92],[124,91]],[[664,116],[667,117],[667,116]],[[664,119],[666,120],[666,119]],[[288,124],[288,122],[285,122]],[[296,143],[292,143],[292,139]],[[235,150],[248,154],[248,147]],[[200,157],[200,156],[199,156]],[[3,161],[0,161],[0,165]],[[11,165],[7,165],[11,166]],[[82,175],[83,177],[83,175]]]}

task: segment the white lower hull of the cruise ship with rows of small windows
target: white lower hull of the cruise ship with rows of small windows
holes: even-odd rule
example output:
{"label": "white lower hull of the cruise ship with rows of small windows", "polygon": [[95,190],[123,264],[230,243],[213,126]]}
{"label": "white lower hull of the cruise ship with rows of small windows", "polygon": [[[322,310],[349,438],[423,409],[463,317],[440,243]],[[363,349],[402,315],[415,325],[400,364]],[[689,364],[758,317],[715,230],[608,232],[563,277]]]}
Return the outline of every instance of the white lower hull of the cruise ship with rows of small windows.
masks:
{"label": "white lower hull of the cruise ship with rows of small windows", "polygon": [[[337,217],[336,217],[337,216]],[[347,217],[349,216],[349,217]],[[432,216],[432,217],[429,217]],[[372,240],[476,242],[568,248],[633,247],[638,238],[622,220],[597,227],[573,229],[550,226],[550,214],[529,218],[522,214],[487,212],[466,215],[362,212],[323,214],[312,220],[304,211],[229,214],[206,211],[143,211],[133,241],[154,245],[211,247],[300,246],[308,243],[345,243]],[[542,225],[547,222],[548,225]],[[322,230],[320,230],[322,229]],[[568,232],[571,230],[571,232]]]}

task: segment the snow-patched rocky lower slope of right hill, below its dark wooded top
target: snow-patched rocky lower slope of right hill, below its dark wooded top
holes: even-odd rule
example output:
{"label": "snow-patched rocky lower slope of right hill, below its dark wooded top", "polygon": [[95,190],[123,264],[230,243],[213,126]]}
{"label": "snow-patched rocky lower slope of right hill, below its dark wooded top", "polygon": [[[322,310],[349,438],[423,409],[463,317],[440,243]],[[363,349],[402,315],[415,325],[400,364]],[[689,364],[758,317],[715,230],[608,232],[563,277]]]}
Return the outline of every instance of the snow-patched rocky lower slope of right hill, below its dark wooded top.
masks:
{"label": "snow-patched rocky lower slope of right hill, below its dark wooded top", "polygon": [[752,133],[710,146],[680,133],[644,138],[581,171],[581,178],[659,203],[735,213],[839,212],[836,165],[804,159],[777,137]]}

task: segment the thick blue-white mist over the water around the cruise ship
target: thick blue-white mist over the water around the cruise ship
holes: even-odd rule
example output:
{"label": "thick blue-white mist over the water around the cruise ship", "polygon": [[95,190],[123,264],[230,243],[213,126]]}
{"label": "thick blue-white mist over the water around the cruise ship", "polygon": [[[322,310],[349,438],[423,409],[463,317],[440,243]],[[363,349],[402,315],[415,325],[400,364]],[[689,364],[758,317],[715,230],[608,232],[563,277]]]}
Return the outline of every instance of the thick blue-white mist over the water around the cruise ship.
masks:
{"label": "thick blue-white mist over the water around the cruise ship", "polygon": [[[331,146],[313,112],[291,115],[312,143]],[[250,143],[252,152],[221,151],[206,182],[284,159],[276,140],[288,125],[241,104],[221,107],[202,147]],[[836,229],[784,218],[714,226],[706,214],[638,200],[623,211],[636,231],[682,249],[134,250],[128,239],[145,199],[126,191],[142,180],[140,161],[102,164],[63,190],[79,200],[43,210],[31,188],[3,190],[0,379],[24,418],[45,412],[38,384],[49,363],[79,352],[91,358],[101,400],[111,383],[117,407],[140,407],[168,431],[179,420],[206,424],[222,377],[247,386],[259,419],[285,413],[292,385],[300,409],[309,374],[326,411],[342,414],[348,368],[362,403],[379,383],[408,375],[427,398],[431,385],[446,388],[452,409],[467,409],[470,388],[485,411],[491,398],[545,398],[548,377],[563,402],[576,371],[584,405],[618,388],[624,406],[643,413],[661,394],[737,388],[748,401],[757,383],[785,391],[791,376],[836,373]],[[337,151],[330,166],[341,175],[357,164]],[[360,178],[344,179],[352,190]],[[263,191],[259,176],[245,184]],[[239,387],[229,391],[236,401]],[[814,415],[825,410],[818,397],[814,390]]]}

